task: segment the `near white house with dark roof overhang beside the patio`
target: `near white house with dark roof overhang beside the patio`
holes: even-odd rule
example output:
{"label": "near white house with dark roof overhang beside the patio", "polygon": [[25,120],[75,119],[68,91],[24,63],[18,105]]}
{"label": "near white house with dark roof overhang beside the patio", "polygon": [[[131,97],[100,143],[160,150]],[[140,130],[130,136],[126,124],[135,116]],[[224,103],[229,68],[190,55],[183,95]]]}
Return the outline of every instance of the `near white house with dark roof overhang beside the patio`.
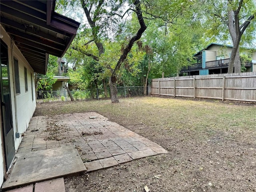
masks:
{"label": "near white house with dark roof overhang beside the patio", "polygon": [[54,12],[55,0],[0,1],[0,185],[36,109],[34,72],[62,57],[80,23]]}

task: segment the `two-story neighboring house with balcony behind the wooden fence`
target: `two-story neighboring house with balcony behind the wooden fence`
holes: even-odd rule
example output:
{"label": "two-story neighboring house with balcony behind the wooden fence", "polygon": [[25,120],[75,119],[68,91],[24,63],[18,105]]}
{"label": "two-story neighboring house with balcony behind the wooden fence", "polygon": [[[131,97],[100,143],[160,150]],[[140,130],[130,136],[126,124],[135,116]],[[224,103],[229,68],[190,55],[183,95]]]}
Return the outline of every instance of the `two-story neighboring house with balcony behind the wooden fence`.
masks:
{"label": "two-story neighboring house with balcony behind the wooden fence", "polygon": [[[208,75],[221,74],[228,72],[228,64],[232,52],[232,45],[223,45],[218,43],[211,43],[206,48],[194,54],[196,64],[184,67],[180,74],[188,75]],[[248,54],[252,58],[252,63],[246,63],[246,72],[256,71],[256,50],[240,49],[240,54]]]}

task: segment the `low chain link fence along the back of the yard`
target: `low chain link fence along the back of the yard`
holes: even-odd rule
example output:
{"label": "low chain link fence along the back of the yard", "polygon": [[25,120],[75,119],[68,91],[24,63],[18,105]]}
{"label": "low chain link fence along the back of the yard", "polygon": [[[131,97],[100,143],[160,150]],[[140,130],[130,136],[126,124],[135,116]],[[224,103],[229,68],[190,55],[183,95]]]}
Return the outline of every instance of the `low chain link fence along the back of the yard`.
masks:
{"label": "low chain link fence along the back of the yard", "polygon": [[[118,97],[138,97],[144,96],[144,89],[146,89],[146,95],[148,95],[148,87],[117,87]],[[92,99],[108,99],[110,98],[110,88],[98,88],[98,89],[87,89],[87,90],[71,90],[70,91],[74,100],[92,100]],[[70,100],[67,90],[50,90],[50,91],[38,91],[38,100],[46,101],[67,101]]]}

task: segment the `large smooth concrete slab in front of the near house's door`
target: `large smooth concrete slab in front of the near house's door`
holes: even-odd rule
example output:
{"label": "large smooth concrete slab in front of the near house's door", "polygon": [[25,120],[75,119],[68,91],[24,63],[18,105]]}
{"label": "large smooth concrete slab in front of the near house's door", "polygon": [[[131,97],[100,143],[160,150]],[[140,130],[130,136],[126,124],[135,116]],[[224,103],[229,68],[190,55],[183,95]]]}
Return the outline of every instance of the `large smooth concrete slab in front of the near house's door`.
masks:
{"label": "large smooth concrete slab in front of the near house's door", "polygon": [[75,146],[17,154],[18,159],[2,189],[86,171]]}

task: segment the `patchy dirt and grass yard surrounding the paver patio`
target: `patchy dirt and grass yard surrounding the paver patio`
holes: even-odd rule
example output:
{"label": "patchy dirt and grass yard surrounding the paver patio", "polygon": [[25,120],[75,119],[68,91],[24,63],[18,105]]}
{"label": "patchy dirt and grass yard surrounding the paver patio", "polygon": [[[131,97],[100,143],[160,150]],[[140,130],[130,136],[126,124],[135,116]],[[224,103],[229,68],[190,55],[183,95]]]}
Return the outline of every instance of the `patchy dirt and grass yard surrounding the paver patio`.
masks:
{"label": "patchy dirt and grass yard surrounding the paver patio", "polygon": [[45,102],[34,116],[92,111],[169,153],[66,178],[66,192],[256,191],[255,104],[158,97]]}

